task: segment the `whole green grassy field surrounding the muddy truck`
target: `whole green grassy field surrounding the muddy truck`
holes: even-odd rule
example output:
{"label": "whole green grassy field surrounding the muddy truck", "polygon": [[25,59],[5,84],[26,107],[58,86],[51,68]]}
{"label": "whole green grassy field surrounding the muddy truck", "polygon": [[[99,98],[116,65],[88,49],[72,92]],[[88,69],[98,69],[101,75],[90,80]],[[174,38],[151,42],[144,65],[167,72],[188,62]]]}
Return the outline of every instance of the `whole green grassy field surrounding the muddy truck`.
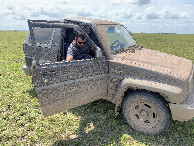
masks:
{"label": "whole green grassy field surrounding the muddy truck", "polygon": [[[28,32],[0,31],[0,145],[194,145],[194,119],[171,121],[166,133],[133,131],[114,105],[99,100],[44,118],[31,76],[24,74]],[[140,45],[194,63],[194,35],[133,34]]]}

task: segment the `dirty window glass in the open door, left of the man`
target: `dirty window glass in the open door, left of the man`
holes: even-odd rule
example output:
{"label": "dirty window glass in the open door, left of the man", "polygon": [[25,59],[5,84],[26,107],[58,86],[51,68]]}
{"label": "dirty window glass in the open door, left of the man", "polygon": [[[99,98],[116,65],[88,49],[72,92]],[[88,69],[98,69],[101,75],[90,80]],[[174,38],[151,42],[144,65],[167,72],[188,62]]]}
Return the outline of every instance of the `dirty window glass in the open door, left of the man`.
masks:
{"label": "dirty window glass in the open door, left of the man", "polygon": [[40,63],[60,61],[61,28],[34,27],[33,34]]}

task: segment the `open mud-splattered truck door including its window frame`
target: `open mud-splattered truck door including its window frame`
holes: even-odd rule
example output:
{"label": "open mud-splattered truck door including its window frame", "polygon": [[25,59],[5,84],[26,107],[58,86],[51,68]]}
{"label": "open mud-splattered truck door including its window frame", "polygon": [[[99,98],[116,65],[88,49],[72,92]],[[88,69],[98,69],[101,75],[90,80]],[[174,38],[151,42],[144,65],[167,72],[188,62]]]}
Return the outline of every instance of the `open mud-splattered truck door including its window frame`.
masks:
{"label": "open mud-splattered truck door including its window frame", "polygon": [[[63,31],[66,28],[79,28],[78,25],[60,21],[35,20],[28,20],[28,24],[35,57],[32,79],[40,107],[45,117],[106,97],[108,62],[104,57],[71,62],[65,60],[47,60],[47,62],[41,62],[42,56],[40,54],[47,51],[44,49],[44,52],[41,52],[42,50],[38,47],[34,28],[60,28],[60,35],[63,35]],[[81,31],[83,32],[82,29]],[[93,43],[88,36],[86,38]],[[63,40],[59,44],[63,45]],[[95,44],[93,43],[93,45]],[[58,48],[63,49],[62,46],[58,46]],[[50,48],[49,50],[52,49],[55,50],[56,48]],[[53,52],[47,52],[44,55],[49,56],[44,57],[52,58],[52,55],[56,55]],[[63,51],[60,50],[60,52]]]}

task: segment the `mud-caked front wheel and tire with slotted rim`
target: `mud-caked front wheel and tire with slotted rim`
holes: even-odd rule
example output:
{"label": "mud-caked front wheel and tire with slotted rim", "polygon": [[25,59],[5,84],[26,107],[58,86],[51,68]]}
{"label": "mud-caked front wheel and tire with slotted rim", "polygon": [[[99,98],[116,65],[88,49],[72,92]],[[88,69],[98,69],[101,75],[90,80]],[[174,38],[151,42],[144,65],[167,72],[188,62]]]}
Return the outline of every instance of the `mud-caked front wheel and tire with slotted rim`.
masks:
{"label": "mud-caked front wheel and tire with slotted rim", "polygon": [[165,132],[171,120],[166,102],[148,92],[129,94],[122,103],[122,114],[134,130],[151,135]]}

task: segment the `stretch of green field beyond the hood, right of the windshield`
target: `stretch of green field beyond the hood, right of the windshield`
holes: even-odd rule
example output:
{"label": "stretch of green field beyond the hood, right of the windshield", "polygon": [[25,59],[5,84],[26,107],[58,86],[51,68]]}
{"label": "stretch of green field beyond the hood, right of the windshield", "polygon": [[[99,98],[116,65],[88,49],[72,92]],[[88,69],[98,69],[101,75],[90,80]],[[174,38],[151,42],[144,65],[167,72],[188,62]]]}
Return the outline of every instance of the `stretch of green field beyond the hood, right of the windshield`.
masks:
{"label": "stretch of green field beyond the hood, right of the windshield", "polygon": [[194,63],[194,34],[133,34],[133,36],[145,48],[187,58]]}

